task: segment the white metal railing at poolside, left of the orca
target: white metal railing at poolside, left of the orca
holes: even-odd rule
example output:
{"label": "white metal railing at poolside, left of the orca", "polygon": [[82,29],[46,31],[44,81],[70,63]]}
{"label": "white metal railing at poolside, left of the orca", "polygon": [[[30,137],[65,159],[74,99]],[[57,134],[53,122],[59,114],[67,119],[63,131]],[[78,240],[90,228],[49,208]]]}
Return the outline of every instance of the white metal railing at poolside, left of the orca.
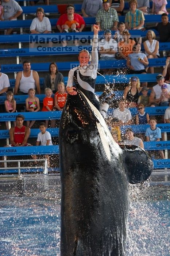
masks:
{"label": "white metal railing at poolside, left of the orca", "polygon": [[[24,166],[21,167],[21,163],[23,162],[44,162],[43,166]],[[18,163],[17,167],[1,167],[0,170],[2,169],[8,169],[8,170],[12,170],[12,169],[18,169],[18,175],[21,175],[21,170],[24,169],[43,169],[43,174],[47,174],[48,173],[48,164],[47,164],[47,159],[27,159],[27,160],[1,160],[0,163]]]}

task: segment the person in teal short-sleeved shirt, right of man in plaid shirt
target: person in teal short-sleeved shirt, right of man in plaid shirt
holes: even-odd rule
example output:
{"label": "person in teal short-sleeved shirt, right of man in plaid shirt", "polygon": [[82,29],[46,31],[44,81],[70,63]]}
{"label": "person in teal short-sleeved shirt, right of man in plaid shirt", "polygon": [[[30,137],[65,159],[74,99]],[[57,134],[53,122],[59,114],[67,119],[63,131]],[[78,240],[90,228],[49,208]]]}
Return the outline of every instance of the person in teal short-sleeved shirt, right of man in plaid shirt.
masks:
{"label": "person in teal short-sleeved shirt, right of man in plaid shirt", "polygon": [[144,26],[144,15],[143,12],[139,9],[136,9],[137,7],[137,1],[136,0],[130,0],[129,1],[130,11],[127,12],[125,15],[125,26],[128,30],[130,29],[141,29]]}

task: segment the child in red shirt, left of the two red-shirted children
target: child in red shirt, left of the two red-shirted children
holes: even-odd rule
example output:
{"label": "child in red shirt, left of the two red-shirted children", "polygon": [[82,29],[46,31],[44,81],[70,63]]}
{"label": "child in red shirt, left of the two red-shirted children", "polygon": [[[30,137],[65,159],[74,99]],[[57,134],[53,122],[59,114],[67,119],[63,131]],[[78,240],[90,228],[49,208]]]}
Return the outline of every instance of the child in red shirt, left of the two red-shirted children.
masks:
{"label": "child in red shirt, left of the two red-shirted children", "polygon": [[[45,89],[46,97],[43,99],[42,111],[53,111],[54,99],[51,97],[52,91],[50,88]],[[51,121],[52,123],[52,121]],[[46,126],[48,127],[49,120],[46,120]]]}

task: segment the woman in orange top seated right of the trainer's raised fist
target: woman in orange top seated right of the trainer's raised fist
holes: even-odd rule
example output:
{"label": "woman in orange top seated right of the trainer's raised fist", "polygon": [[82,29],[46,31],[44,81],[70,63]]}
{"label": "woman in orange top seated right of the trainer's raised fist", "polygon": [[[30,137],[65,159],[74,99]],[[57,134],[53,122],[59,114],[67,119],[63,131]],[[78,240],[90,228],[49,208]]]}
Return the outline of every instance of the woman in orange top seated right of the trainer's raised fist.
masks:
{"label": "woman in orange top seated right of the trainer's raised fist", "polygon": [[118,43],[120,56],[126,59],[127,56],[133,52],[134,45],[135,45],[135,41],[130,39],[130,33],[128,31],[124,31],[123,41],[120,41]]}

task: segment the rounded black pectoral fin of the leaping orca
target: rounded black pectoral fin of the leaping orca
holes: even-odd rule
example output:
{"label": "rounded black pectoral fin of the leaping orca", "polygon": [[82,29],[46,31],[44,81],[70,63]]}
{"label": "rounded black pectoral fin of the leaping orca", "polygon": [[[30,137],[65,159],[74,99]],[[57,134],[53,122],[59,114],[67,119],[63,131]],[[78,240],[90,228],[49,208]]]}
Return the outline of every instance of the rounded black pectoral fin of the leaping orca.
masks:
{"label": "rounded black pectoral fin of the leaping orca", "polygon": [[135,184],[147,180],[153,171],[153,162],[145,150],[134,145],[119,146],[123,150],[128,182]]}

